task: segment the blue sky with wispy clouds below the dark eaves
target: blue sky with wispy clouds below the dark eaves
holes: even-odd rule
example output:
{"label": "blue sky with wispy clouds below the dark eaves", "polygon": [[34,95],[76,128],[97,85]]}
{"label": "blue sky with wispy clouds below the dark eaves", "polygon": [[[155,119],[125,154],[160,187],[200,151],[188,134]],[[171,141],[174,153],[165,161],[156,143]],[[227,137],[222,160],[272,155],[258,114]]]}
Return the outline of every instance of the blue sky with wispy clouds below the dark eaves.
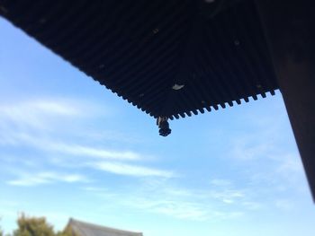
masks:
{"label": "blue sky with wispy clouds below the dark eaves", "polygon": [[146,236],[314,235],[280,92],[155,120],[0,19],[0,225],[19,213]]}

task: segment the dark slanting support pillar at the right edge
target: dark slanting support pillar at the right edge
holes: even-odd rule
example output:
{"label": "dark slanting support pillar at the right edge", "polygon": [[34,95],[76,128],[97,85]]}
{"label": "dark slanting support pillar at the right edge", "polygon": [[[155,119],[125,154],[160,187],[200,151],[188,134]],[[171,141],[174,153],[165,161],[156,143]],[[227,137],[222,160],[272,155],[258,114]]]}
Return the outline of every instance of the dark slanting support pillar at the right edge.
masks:
{"label": "dark slanting support pillar at the right edge", "polygon": [[315,201],[315,2],[256,4]]}

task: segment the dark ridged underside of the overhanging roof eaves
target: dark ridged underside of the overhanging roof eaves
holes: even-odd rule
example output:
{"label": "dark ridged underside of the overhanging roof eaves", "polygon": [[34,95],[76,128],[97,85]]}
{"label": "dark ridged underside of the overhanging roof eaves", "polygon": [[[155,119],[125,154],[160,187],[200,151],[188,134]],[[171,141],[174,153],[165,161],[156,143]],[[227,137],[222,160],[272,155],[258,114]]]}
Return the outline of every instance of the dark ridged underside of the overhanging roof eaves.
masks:
{"label": "dark ridged underside of the overhanging roof eaves", "polygon": [[0,13],[156,118],[274,94],[278,84],[253,1],[235,1],[214,16],[205,15],[205,2],[0,0]]}

